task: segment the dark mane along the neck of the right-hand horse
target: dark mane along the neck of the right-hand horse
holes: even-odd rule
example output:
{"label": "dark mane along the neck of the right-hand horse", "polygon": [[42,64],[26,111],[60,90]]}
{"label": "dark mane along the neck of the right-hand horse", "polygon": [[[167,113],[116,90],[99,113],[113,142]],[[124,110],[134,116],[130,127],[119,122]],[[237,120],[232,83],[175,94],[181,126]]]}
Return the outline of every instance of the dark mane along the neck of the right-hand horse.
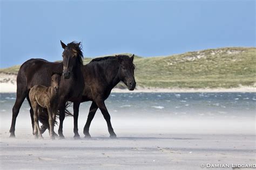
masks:
{"label": "dark mane along the neck of the right-hand horse", "polygon": [[133,64],[133,62],[130,62],[130,56],[122,55],[122,54],[116,55],[116,56],[104,56],[104,57],[95,58],[95,59],[92,59],[91,62],[111,61],[111,60],[129,61],[129,62],[124,62],[125,65],[127,67],[135,68],[135,65]]}

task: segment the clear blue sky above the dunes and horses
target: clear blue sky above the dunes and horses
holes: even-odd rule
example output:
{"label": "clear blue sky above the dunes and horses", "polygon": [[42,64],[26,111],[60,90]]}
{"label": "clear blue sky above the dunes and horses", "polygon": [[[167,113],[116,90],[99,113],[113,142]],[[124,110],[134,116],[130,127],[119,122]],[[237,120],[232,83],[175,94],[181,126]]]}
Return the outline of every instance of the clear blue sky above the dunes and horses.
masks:
{"label": "clear blue sky above the dunes and horses", "polygon": [[60,40],[86,57],[255,47],[255,1],[1,1],[1,68],[61,60]]}

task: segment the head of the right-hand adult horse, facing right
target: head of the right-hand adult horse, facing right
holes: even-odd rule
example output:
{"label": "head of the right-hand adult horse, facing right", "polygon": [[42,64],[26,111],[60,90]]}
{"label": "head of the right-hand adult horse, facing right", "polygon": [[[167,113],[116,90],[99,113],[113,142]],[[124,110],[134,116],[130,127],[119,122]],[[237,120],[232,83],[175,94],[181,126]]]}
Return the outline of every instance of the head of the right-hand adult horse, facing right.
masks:
{"label": "head of the right-hand adult horse, facing right", "polygon": [[134,54],[131,57],[127,55],[117,55],[117,57],[118,62],[120,63],[118,70],[119,79],[125,83],[129,90],[134,90],[136,86],[134,78],[135,66],[133,64]]}

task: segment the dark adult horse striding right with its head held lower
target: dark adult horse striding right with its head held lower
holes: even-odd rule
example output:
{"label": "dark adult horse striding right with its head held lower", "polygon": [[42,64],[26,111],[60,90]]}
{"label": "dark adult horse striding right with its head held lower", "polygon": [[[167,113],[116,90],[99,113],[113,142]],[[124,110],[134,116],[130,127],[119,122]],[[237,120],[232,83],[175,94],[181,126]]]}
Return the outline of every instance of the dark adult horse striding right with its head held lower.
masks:
{"label": "dark adult horse striding right with its head held lower", "polygon": [[[87,122],[84,126],[85,137],[90,138],[89,128],[97,109],[102,112],[111,138],[116,138],[116,134],[110,122],[110,115],[107,111],[105,100],[109,97],[111,90],[120,81],[123,81],[129,90],[134,90],[136,81],[134,79],[134,55],[106,56],[104,58],[93,59],[83,67],[85,87],[81,101],[73,103],[74,110],[74,133],[75,138],[79,138],[77,128],[77,117],[80,102],[92,101]],[[46,114],[47,115],[47,114]],[[42,126],[42,132],[49,127],[47,121]]]}

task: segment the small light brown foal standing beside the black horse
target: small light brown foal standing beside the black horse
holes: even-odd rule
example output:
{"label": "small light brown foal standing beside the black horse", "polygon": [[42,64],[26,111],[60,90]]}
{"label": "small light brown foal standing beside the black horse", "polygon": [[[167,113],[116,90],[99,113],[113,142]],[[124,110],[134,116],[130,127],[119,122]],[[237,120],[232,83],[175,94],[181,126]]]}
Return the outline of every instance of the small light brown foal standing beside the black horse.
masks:
{"label": "small light brown foal standing beside the black horse", "polygon": [[58,111],[58,90],[60,83],[61,74],[52,74],[51,76],[51,86],[45,87],[41,85],[33,86],[29,91],[29,99],[31,106],[33,108],[34,117],[34,128],[33,134],[35,138],[43,139],[42,133],[38,124],[38,114],[40,111],[38,109],[46,108],[49,115],[49,125],[50,125],[50,138],[55,139],[54,136],[54,124],[56,119],[56,113]]}

